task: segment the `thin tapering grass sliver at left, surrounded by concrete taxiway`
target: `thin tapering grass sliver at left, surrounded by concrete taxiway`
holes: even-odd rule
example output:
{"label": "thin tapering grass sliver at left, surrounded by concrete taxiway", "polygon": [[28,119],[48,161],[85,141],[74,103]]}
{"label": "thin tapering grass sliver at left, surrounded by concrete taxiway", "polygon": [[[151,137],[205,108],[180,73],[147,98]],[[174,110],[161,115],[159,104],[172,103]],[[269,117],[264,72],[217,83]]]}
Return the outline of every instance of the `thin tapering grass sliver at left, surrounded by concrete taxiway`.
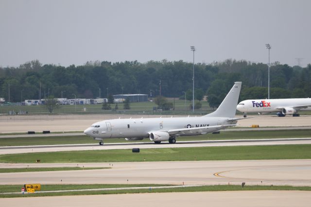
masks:
{"label": "thin tapering grass sliver at left, surrounded by concrete taxiway", "polygon": [[62,167],[62,168],[0,168],[0,173],[21,173],[41,171],[77,171],[77,170],[98,170],[109,168],[84,168],[84,167]]}

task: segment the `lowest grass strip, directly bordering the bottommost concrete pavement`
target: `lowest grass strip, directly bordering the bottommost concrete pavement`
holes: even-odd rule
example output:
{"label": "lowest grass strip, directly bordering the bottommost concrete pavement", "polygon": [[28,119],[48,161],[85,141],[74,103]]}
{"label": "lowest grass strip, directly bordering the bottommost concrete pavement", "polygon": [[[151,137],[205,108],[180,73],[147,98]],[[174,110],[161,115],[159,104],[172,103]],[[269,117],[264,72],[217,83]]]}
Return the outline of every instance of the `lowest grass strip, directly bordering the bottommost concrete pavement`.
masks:
{"label": "lowest grass strip, directly bordering the bottommost concrete pavement", "polygon": [[[151,185],[148,185],[148,186],[151,186]],[[1,188],[2,186],[0,186],[0,189]],[[19,191],[20,188],[21,186],[19,186],[17,191]],[[55,188],[60,188],[61,190],[63,190],[65,186],[64,187],[55,186]],[[168,188],[168,189],[150,188],[150,189],[142,189],[142,190],[97,190],[97,191],[76,191],[76,192],[45,192],[45,193],[31,193],[31,194],[0,194],[0,198],[64,196],[64,195],[124,194],[124,193],[156,193],[156,192],[237,191],[237,190],[311,190],[311,187],[247,186],[246,185],[244,186],[244,188],[242,188],[241,186],[237,186],[237,185],[217,185],[217,186],[201,186],[201,187],[180,187],[180,188]]]}

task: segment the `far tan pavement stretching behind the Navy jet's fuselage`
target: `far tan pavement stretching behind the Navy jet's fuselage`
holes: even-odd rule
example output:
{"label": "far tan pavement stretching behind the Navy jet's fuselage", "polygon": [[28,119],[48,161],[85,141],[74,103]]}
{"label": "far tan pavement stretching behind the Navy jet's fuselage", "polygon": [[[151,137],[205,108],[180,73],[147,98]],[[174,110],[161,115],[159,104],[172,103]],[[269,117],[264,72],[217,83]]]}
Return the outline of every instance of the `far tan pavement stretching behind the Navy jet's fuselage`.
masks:
{"label": "far tan pavement stretching behind the Navy jet's fuselage", "polygon": [[[1,133],[26,133],[27,131],[51,131],[51,132],[75,132],[84,131],[92,123],[107,119],[118,118],[158,118],[171,117],[165,115],[28,115],[28,116],[0,116]],[[186,117],[186,116],[174,116]],[[237,116],[242,118],[242,116]],[[293,127],[311,126],[311,116],[300,117],[276,117],[259,116],[253,119],[243,119],[238,121],[240,127]]]}

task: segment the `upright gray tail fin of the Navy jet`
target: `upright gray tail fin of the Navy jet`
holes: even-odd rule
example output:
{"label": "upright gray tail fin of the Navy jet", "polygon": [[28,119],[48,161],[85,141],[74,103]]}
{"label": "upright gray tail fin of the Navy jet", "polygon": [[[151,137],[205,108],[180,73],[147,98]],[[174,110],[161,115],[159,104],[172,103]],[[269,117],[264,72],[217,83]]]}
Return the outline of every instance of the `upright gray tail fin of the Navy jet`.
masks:
{"label": "upright gray tail fin of the Navy jet", "polygon": [[204,117],[235,117],[237,104],[240,96],[242,82],[235,82],[224,101],[216,111],[205,115]]}

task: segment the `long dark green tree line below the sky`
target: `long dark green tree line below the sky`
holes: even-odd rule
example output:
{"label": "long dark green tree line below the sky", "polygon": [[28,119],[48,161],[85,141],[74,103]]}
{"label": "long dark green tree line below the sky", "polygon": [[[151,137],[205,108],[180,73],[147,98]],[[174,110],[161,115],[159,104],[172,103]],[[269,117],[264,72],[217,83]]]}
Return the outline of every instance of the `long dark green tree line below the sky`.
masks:
{"label": "long dark green tree line below the sky", "polygon": [[[234,82],[242,81],[240,100],[268,96],[268,66],[227,59],[195,64],[197,100],[208,96],[218,106]],[[107,98],[109,94],[148,94],[151,97],[192,99],[192,63],[180,61],[89,61],[82,66],[42,65],[33,60],[19,67],[0,67],[0,97],[9,102],[54,96]],[[41,91],[41,92],[40,92]],[[306,68],[278,62],[270,67],[270,98],[311,97],[311,64]]]}

